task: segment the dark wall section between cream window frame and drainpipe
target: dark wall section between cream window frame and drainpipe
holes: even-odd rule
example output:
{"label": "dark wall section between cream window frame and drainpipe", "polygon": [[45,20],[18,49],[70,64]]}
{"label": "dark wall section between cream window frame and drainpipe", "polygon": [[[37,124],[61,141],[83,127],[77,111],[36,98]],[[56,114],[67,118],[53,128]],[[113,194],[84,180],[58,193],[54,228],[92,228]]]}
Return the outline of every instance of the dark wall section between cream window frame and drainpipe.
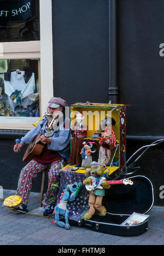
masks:
{"label": "dark wall section between cream window frame and drainpipe", "polygon": [[108,103],[108,1],[52,4],[55,95],[69,104]]}

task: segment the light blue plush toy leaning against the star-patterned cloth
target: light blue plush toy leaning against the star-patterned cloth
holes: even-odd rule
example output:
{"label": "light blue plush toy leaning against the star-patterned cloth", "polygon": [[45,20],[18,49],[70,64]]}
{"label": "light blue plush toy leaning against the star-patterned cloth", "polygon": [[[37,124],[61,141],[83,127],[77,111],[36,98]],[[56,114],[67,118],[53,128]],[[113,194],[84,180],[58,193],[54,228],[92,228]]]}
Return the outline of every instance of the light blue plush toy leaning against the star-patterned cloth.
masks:
{"label": "light blue plush toy leaning against the star-patterned cloth", "polygon": [[[61,194],[60,201],[58,205],[55,207],[54,223],[59,225],[61,228],[70,229],[68,214],[69,210],[67,209],[67,202],[74,201],[75,197],[78,196],[79,191],[83,184],[81,182],[74,182],[73,184],[67,185],[65,191]],[[64,216],[66,220],[66,224],[60,221],[60,216]]]}

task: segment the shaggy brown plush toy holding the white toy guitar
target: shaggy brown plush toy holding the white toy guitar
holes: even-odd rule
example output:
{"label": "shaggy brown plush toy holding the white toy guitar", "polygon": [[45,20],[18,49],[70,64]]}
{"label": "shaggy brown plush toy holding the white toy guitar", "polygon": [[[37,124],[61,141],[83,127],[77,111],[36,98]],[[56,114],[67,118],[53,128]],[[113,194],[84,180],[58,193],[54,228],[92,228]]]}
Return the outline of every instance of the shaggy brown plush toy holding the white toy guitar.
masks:
{"label": "shaggy brown plush toy holding the white toy guitar", "polygon": [[105,189],[110,188],[110,184],[103,177],[104,168],[98,162],[92,162],[91,168],[87,168],[83,184],[90,191],[89,212],[84,214],[84,219],[91,219],[95,210],[99,216],[106,216],[107,210],[102,206],[102,199],[105,195]]}

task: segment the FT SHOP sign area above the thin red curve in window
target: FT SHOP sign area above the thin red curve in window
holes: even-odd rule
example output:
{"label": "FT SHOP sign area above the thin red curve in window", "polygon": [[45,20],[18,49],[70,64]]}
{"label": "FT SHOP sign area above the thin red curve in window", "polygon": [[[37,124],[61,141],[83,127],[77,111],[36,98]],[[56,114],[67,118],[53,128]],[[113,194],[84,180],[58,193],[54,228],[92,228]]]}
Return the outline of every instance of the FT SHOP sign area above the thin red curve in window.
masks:
{"label": "FT SHOP sign area above the thin red curve in window", "polygon": [[15,27],[36,18],[37,0],[0,0],[0,27]]}

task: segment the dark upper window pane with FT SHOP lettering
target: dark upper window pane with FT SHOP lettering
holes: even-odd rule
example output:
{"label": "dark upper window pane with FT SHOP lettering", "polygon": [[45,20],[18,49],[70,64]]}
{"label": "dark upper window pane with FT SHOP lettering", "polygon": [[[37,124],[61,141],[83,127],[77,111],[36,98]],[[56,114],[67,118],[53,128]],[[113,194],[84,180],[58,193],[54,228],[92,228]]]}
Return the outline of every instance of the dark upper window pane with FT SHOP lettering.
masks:
{"label": "dark upper window pane with FT SHOP lettering", "polygon": [[40,40],[39,0],[0,0],[0,42]]}

